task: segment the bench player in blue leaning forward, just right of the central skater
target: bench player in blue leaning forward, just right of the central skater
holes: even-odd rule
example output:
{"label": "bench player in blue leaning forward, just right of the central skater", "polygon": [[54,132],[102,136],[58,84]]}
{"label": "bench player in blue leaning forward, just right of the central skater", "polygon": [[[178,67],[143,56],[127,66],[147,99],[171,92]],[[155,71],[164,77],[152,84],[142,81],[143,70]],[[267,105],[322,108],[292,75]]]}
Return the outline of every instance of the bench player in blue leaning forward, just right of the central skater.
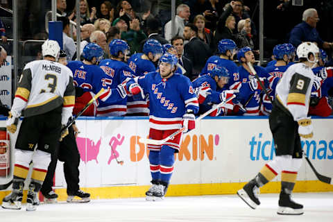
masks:
{"label": "bench player in blue leaning forward, just right of the central skater", "polygon": [[[229,79],[230,74],[228,70],[216,66],[210,70],[207,75],[200,76],[192,82],[194,92],[196,92],[199,102],[200,109],[198,114],[207,112],[207,110],[212,108],[213,104],[219,104],[230,98],[233,94],[238,93],[238,89],[228,90],[228,88],[225,87],[225,85],[228,84]],[[234,102],[236,102],[236,100],[237,99],[233,99],[227,104],[224,104],[221,106],[221,109],[216,109],[210,114],[210,116],[216,117],[219,114],[226,114],[227,110],[233,110]]]}

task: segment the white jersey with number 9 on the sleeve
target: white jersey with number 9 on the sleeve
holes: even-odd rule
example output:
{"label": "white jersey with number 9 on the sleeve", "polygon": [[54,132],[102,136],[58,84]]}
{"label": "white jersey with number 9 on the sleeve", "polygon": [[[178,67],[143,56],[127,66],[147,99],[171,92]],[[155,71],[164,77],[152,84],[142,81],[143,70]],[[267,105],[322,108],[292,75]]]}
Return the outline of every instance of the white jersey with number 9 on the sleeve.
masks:
{"label": "white jersey with number 9 on the sleeve", "polygon": [[295,121],[307,117],[314,78],[311,68],[300,62],[291,65],[276,86],[278,102],[287,108]]}

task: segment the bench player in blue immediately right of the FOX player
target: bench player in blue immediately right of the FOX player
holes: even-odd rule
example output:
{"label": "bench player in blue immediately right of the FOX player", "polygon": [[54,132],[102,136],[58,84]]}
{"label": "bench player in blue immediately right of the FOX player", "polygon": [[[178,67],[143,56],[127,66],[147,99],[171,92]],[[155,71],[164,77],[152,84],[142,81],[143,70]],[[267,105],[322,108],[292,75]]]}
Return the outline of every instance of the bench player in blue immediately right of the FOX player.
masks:
{"label": "bench player in blue immediately right of the FOX player", "polygon": [[[108,75],[110,88],[116,89],[121,84],[128,95],[135,96],[137,99],[144,99],[142,89],[134,84],[133,76],[135,76],[135,73],[125,63],[130,51],[128,44],[123,40],[114,39],[110,42],[109,49],[111,58],[102,60],[99,67]],[[97,116],[124,116],[127,111],[126,98],[117,102],[105,101],[100,103],[97,108]]]}

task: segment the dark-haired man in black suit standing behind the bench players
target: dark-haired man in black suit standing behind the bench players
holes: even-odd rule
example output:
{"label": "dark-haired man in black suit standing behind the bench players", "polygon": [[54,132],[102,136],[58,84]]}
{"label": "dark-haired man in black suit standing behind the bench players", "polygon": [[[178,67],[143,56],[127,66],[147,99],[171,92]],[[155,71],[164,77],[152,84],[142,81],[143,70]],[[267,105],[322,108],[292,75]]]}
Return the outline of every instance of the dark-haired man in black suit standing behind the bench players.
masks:
{"label": "dark-haired man in black suit standing behind the bench players", "polygon": [[193,75],[198,76],[205,67],[207,58],[211,56],[210,46],[198,38],[198,28],[194,24],[187,24],[183,35],[185,40],[189,40],[184,46],[184,55],[193,64]]}

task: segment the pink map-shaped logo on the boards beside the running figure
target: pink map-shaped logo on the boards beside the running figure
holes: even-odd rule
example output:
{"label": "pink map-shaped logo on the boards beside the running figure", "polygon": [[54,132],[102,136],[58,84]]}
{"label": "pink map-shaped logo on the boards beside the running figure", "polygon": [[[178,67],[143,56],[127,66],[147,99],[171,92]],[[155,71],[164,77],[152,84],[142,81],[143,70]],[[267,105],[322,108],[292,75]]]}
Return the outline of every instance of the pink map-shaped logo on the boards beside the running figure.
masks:
{"label": "pink map-shaped logo on the boards beside the running figure", "polygon": [[[99,147],[101,146],[101,139],[95,144],[92,139],[85,137],[77,137],[76,143],[78,144],[78,152],[80,159],[87,163],[88,161],[95,160],[99,163],[97,156],[99,155]],[[87,153],[85,152],[87,151]]]}

